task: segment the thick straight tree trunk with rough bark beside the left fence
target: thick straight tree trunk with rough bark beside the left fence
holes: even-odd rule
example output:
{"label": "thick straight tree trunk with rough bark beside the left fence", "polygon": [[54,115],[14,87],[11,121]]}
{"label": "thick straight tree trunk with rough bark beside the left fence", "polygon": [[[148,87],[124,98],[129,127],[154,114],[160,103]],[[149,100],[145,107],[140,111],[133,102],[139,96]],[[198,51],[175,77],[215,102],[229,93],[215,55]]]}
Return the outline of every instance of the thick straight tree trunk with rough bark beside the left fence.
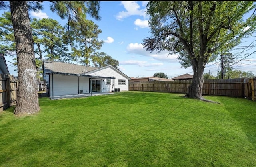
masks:
{"label": "thick straight tree trunk with rough bark beside the left fence", "polygon": [[28,1],[10,1],[18,64],[18,92],[14,114],[33,114],[40,110],[34,42],[27,3]]}

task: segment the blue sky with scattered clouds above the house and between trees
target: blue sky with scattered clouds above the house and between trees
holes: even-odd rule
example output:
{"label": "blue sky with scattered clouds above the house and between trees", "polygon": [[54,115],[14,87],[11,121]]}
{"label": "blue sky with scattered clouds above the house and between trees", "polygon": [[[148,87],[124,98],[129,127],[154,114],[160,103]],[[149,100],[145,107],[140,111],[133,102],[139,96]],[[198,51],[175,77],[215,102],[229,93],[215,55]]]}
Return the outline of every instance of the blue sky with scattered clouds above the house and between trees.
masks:
{"label": "blue sky with scattered clouds above the house and between trees", "polygon": [[[154,73],[163,72],[170,78],[178,75],[189,73],[193,75],[192,68],[181,68],[180,63],[176,60],[177,55],[169,55],[167,52],[150,53],[143,48],[141,44],[143,39],[150,37],[148,27],[148,16],[146,15],[146,4],[148,1],[101,1],[100,16],[101,20],[92,19],[102,30],[99,35],[100,40],[104,40],[100,51],[107,53],[113,59],[118,60],[119,69],[129,77],[150,77]],[[50,2],[43,2],[44,9],[38,13],[29,12],[31,18],[52,18],[57,20],[63,26],[66,20],[60,19],[56,13],[49,9]],[[0,14],[2,14],[1,11]],[[88,17],[88,19],[91,19]],[[256,39],[256,37],[254,38]],[[241,45],[255,45],[254,39],[245,39]],[[243,50],[240,47],[237,52]],[[255,48],[255,47],[254,47]],[[253,53],[256,49],[247,49],[246,54]],[[239,55],[240,59],[246,55]],[[237,61],[239,61],[238,59]],[[6,60],[12,61],[6,57]],[[246,61],[245,61],[246,60]],[[17,76],[17,72],[7,62],[10,74]],[[208,63],[205,73],[216,75],[219,60]],[[252,71],[256,74],[256,53],[242,59],[233,67],[242,71]],[[220,68],[219,68],[220,70]]]}

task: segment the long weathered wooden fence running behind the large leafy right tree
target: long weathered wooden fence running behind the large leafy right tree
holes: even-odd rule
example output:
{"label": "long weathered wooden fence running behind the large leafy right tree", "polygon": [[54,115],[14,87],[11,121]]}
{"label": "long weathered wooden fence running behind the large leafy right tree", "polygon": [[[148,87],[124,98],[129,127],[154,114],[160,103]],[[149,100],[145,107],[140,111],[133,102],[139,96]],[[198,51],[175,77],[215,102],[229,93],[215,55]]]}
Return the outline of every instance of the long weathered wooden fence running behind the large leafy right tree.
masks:
{"label": "long weathered wooden fence running behind the large leafy right tree", "polygon": [[[151,92],[188,92],[190,80],[175,81],[149,81],[142,83],[129,83],[129,90]],[[203,85],[203,95],[240,96],[255,101],[256,78],[253,79],[206,79]]]}

